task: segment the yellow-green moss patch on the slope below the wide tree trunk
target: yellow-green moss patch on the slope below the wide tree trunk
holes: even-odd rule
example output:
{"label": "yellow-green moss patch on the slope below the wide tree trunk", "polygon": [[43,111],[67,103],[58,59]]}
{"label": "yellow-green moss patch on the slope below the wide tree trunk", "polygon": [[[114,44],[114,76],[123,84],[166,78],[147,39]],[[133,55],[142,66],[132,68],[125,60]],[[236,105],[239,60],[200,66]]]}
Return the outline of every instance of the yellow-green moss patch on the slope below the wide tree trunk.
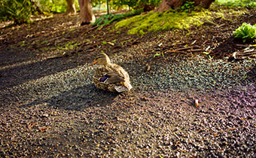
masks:
{"label": "yellow-green moss patch on the slope below the wide tree trunk", "polygon": [[[190,26],[200,26],[206,20],[212,20],[215,13],[209,11],[185,12],[166,11],[164,13],[153,13],[138,15],[122,20],[114,26],[115,29],[126,27],[130,30],[128,34],[143,35],[146,31],[159,31],[164,29],[189,29]],[[217,14],[216,14],[217,15]],[[220,16],[220,14],[218,14]]]}

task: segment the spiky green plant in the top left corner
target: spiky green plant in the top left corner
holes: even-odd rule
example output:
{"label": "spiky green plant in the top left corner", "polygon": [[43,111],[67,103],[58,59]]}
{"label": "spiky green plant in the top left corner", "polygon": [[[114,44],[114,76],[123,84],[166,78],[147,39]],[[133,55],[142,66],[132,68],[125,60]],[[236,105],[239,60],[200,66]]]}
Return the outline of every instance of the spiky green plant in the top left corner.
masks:
{"label": "spiky green plant in the top left corner", "polygon": [[1,1],[0,20],[14,20],[15,24],[30,23],[31,6],[29,0]]}

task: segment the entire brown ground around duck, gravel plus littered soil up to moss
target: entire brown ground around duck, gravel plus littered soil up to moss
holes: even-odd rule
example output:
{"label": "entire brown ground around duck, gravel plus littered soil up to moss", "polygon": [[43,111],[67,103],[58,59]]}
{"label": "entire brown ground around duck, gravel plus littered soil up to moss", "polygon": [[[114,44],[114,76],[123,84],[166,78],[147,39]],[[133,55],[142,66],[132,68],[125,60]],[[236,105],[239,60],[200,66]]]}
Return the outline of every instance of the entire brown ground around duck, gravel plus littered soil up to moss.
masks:
{"label": "entire brown ground around duck, gravel plus littered soil up to moss", "polygon": [[[254,42],[233,31],[256,11],[212,22],[142,36],[78,14],[2,27],[0,155],[255,157]],[[128,71],[130,93],[93,85],[87,64],[102,52]]]}

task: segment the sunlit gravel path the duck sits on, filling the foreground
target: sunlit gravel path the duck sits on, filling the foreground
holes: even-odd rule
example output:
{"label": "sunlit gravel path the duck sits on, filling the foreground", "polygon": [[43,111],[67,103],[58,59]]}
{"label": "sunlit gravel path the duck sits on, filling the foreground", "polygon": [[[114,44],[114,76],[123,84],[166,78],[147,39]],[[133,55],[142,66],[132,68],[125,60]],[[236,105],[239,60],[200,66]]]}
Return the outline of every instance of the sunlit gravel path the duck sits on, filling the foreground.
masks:
{"label": "sunlit gravel path the duck sits on, filling the foreground", "polygon": [[[1,85],[0,155],[256,156],[255,59],[142,59],[129,52],[129,60],[126,53],[111,57],[129,71],[131,93],[97,90],[86,65]],[[54,69],[52,62],[45,67]],[[24,71],[38,69],[33,63]],[[2,76],[15,71],[1,69]]]}

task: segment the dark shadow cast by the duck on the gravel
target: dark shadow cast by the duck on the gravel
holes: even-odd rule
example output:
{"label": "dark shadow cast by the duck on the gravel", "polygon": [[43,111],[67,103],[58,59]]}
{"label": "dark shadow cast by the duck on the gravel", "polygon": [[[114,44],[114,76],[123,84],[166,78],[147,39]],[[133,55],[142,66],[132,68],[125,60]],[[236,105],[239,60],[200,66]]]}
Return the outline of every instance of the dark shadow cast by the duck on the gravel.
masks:
{"label": "dark shadow cast by the duck on the gravel", "polygon": [[99,90],[93,84],[87,84],[84,87],[60,93],[58,96],[38,99],[23,106],[46,104],[50,107],[62,108],[64,110],[84,111],[84,109],[93,106],[111,105],[118,95],[118,93],[108,93],[104,90]]}

